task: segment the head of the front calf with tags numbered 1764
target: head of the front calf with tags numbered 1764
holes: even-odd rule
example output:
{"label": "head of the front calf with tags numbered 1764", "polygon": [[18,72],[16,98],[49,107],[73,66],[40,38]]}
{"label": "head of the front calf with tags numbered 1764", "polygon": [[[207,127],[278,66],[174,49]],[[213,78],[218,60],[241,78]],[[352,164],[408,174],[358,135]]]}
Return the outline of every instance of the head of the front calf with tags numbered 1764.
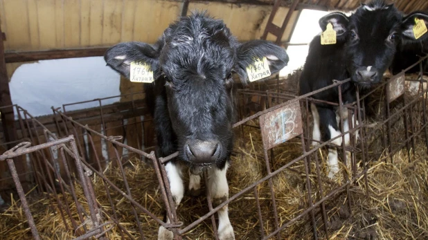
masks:
{"label": "head of the front calf with tags numbered 1764", "polygon": [[154,45],[125,42],[105,53],[107,65],[128,78],[131,62],[150,66],[152,84],[161,89],[155,124],[170,121],[180,158],[195,165],[224,162],[229,157],[234,121],[232,73],[247,84],[247,66],[262,57],[267,57],[271,73],[288,62],[283,48],[261,40],[238,43],[223,21],[202,13],[170,25]]}

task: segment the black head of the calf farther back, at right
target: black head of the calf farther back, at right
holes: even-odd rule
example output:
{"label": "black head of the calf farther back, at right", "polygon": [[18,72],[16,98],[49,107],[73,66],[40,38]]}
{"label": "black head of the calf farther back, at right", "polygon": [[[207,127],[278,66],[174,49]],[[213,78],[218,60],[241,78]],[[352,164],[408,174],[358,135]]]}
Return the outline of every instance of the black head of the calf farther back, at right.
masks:
{"label": "black head of the calf farther back, at right", "polygon": [[402,41],[417,42],[428,38],[428,33],[415,39],[415,19],[428,24],[428,16],[413,12],[402,16],[393,4],[371,1],[362,4],[349,17],[332,12],[319,20],[323,30],[330,23],[337,32],[337,41],[344,43],[346,68],[351,80],[362,86],[380,82],[391,65],[398,44]]}

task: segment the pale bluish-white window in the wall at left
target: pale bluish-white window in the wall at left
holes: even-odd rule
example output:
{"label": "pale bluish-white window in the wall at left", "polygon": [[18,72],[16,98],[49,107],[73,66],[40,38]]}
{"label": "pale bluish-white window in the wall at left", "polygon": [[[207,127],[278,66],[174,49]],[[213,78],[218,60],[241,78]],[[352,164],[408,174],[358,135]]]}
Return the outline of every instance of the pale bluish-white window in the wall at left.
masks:
{"label": "pale bluish-white window in the wall at left", "polygon": [[[23,64],[12,75],[9,87],[14,104],[33,116],[42,116],[52,114],[52,106],[120,95],[120,82],[119,74],[106,66],[102,57],[81,57]],[[96,106],[97,102],[91,102],[73,105],[67,110]]]}

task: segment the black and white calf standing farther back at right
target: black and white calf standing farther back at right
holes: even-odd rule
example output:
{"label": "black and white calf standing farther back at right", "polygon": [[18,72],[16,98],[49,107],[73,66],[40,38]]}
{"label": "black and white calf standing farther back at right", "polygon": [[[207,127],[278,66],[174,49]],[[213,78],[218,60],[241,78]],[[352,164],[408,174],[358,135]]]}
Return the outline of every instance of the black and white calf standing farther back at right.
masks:
{"label": "black and white calf standing farther back at right", "polygon": [[[415,18],[422,19],[426,26],[428,16],[424,13],[413,12],[403,17],[392,4],[387,5],[384,1],[362,4],[348,16],[342,12],[332,12],[322,17],[319,19],[321,29],[324,31],[328,24],[332,24],[337,33],[337,43],[321,45],[320,35],[311,41],[299,81],[300,93],[310,93],[332,84],[333,80],[346,80],[350,77],[352,82],[341,88],[342,100],[344,103],[354,102],[357,85],[368,89],[382,80],[382,75],[391,65],[398,44],[417,43],[427,39],[428,33],[415,39]],[[338,89],[317,93],[314,98],[339,102]],[[348,118],[340,121],[337,110],[328,104],[312,104],[314,140],[325,141],[339,136],[339,122],[343,124],[344,130],[348,131]],[[348,145],[349,141],[350,136],[347,134],[345,145]],[[341,145],[342,139],[337,138],[332,143]],[[339,171],[336,148],[329,149],[328,165],[328,176],[332,178]]]}

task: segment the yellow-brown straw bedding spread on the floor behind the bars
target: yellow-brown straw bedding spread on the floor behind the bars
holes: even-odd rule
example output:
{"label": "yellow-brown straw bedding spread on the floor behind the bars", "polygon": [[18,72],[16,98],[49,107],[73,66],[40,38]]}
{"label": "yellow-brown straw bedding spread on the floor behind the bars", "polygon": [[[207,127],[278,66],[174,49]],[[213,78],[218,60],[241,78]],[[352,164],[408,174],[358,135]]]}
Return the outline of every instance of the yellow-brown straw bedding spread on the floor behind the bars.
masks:
{"label": "yellow-brown straw bedding spread on the floor behind the bars", "polygon": [[[237,142],[232,165],[228,172],[230,194],[235,194],[247,185],[251,184],[266,174],[265,161],[262,158],[261,137],[256,129],[246,128],[243,142]],[[370,196],[366,196],[364,184],[353,185],[350,190],[353,193],[352,214],[346,207],[346,194],[342,192],[326,202],[329,218],[329,237],[331,239],[427,239],[428,238],[428,157],[423,145],[418,145],[416,155],[412,156],[412,162],[407,160],[407,151],[403,149],[395,155],[394,163],[374,161],[368,174]],[[322,151],[319,153],[321,160],[326,157]],[[275,159],[271,161],[272,171],[288,163],[301,155],[300,140],[291,140],[277,147],[274,151]],[[125,169],[127,179],[132,189],[134,199],[141,203],[162,219],[162,205],[160,192],[155,183],[154,172],[148,165],[136,158],[130,160],[129,167]],[[322,171],[326,176],[326,160],[322,160]],[[315,169],[311,163],[312,171]],[[307,194],[305,187],[303,162],[292,165],[291,169],[273,178],[276,190],[276,204],[280,224],[289,221],[300,214],[307,207]],[[122,177],[118,169],[109,167],[105,171],[107,178],[118,186],[123,185]],[[109,202],[105,196],[105,187],[100,178],[94,178],[93,185],[97,200],[105,211],[110,212]],[[316,194],[316,177],[311,174],[312,198],[318,200]],[[325,192],[337,187],[339,183],[332,183],[326,177],[323,178]],[[76,187],[80,203],[86,209],[82,189]],[[112,191],[114,192],[114,191]],[[263,228],[271,232],[274,230],[274,218],[271,213],[270,192],[267,183],[258,187],[258,195],[262,216]],[[134,237],[139,236],[136,222],[132,214],[130,204],[119,194],[114,195],[116,214],[121,225],[131,232]],[[71,196],[68,198],[71,210],[78,219],[76,207]],[[31,210],[37,223],[37,230],[42,239],[71,239],[73,230],[66,230],[57,208],[51,205],[48,199],[31,199]],[[54,201],[52,201],[54,202]],[[185,225],[195,221],[199,216],[208,212],[206,198],[204,196],[186,196],[178,210],[181,221]],[[260,238],[256,201],[253,191],[250,191],[237,201],[229,205],[229,216],[235,230],[237,239]],[[324,226],[319,211],[315,213],[316,228],[319,237],[325,237]],[[109,221],[106,214],[104,220]],[[157,238],[157,223],[148,216],[139,212],[139,219],[143,224],[143,232],[146,239]],[[68,223],[70,225],[70,223]],[[204,221],[197,228],[184,235],[184,239],[213,239],[211,219]],[[118,228],[114,227],[108,232],[109,239],[121,239]],[[31,237],[26,224],[24,213],[19,202],[13,202],[8,209],[0,214],[0,238],[1,239],[28,239]],[[287,239],[312,239],[312,225],[309,216],[303,217],[293,225],[290,225],[282,233],[281,237]],[[127,238],[125,236],[125,238]]]}

